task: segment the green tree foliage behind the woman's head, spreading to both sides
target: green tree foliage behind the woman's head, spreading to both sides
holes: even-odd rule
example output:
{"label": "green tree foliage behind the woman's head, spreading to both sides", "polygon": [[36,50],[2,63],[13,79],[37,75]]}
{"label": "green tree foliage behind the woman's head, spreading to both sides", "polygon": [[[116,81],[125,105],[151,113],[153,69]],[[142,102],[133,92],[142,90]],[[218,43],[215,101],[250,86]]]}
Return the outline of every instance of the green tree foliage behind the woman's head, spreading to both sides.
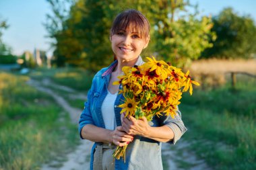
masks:
{"label": "green tree foliage behind the woman's head, spreading to both sides", "polygon": [[146,56],[154,54],[181,66],[198,58],[201,51],[212,46],[209,41],[214,39],[211,19],[197,19],[197,13],[189,13],[188,1],[77,0],[71,4],[68,15],[63,15],[60,1],[49,2],[56,16],[48,17],[51,24],[46,24],[46,28],[56,40],[55,58],[63,64],[68,62],[92,71],[106,67],[113,60],[109,30],[117,13],[124,9],[137,9],[150,20],[151,42],[143,52]]}

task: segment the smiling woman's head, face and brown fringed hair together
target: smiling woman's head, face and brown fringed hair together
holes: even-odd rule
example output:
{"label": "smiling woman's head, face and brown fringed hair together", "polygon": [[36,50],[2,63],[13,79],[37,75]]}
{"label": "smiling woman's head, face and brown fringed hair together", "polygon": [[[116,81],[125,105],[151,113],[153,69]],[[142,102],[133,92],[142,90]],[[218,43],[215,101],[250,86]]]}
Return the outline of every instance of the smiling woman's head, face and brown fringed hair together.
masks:
{"label": "smiling woman's head, face and brown fringed hair together", "polygon": [[127,13],[121,13],[110,30],[113,52],[123,64],[129,61],[135,63],[135,59],[148,46],[150,40],[148,19],[143,15],[138,17],[132,11],[129,11],[129,15]]}

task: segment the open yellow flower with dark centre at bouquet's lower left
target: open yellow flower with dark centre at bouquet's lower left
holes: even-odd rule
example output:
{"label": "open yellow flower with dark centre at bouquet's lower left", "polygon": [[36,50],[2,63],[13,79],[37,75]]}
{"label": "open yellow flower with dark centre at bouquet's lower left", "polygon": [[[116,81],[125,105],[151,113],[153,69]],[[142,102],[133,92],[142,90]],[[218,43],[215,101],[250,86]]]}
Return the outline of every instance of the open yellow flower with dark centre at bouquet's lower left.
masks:
{"label": "open yellow flower with dark centre at bouquet's lower left", "polygon": [[123,108],[120,114],[123,114],[123,112],[126,112],[125,116],[128,116],[128,115],[134,116],[135,110],[138,104],[139,104],[139,101],[136,102],[134,98],[131,99],[129,97],[126,97],[125,103],[119,105],[119,108]]}

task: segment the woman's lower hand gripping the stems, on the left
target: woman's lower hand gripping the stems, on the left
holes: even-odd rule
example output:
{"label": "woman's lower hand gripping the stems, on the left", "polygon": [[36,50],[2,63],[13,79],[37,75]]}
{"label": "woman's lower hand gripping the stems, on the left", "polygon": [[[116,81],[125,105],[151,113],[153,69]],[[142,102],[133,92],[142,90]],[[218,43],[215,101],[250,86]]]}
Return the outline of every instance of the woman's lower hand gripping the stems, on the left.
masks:
{"label": "woman's lower hand gripping the stems, on the left", "polygon": [[125,146],[133,141],[133,135],[127,134],[122,126],[117,126],[113,131],[113,143],[117,146]]}

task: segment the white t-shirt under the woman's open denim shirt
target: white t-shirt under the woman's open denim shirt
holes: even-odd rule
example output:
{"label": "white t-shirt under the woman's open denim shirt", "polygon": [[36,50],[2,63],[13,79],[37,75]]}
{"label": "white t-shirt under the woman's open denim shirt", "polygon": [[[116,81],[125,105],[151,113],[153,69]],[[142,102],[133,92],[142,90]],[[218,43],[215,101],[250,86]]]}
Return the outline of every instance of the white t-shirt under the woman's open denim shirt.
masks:
{"label": "white t-shirt under the woman's open denim shirt", "polygon": [[108,94],[106,95],[101,106],[101,112],[102,112],[105,128],[109,130],[114,130],[115,127],[117,126],[117,123],[115,121],[115,111],[114,111],[114,105],[115,105],[116,99],[117,99],[117,93],[112,94],[108,91]]}

